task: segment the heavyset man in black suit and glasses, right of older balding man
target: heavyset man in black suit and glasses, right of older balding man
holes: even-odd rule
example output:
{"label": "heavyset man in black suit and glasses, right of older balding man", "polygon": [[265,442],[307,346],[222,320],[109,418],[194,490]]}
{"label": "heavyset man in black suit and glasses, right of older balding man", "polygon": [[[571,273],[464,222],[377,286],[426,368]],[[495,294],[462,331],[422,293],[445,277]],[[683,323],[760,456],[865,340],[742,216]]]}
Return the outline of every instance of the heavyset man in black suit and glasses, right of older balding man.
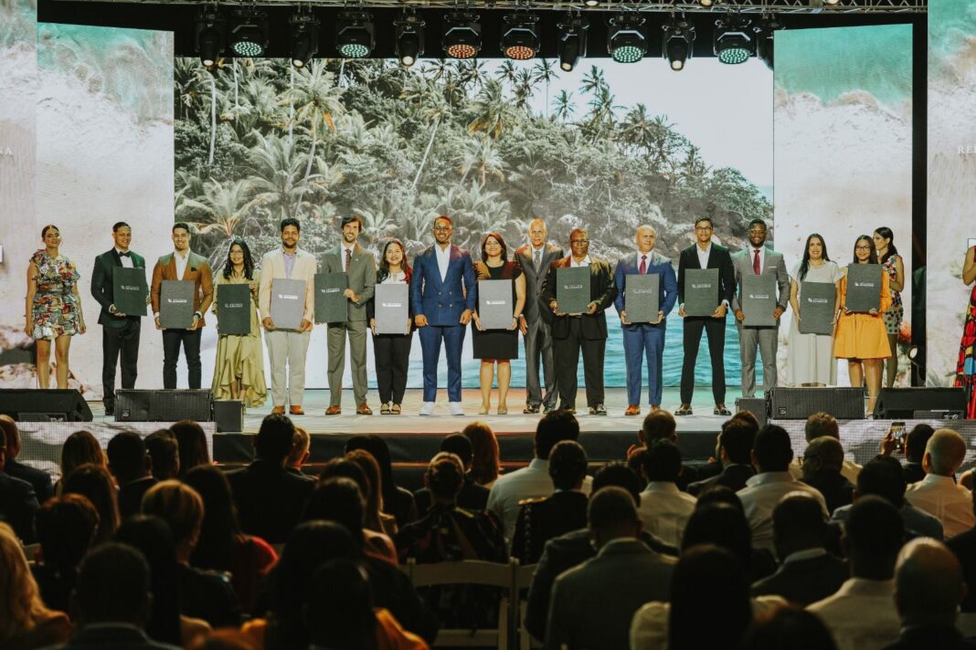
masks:
{"label": "heavyset man in black suit and glasses, right of older balding man", "polygon": [[[603,312],[617,297],[610,264],[590,259],[590,235],[582,228],[569,234],[571,252],[552,262],[543,286],[543,308],[555,315],[552,322],[556,384],[559,408],[576,412],[576,368],[583,349],[583,381],[587,387],[590,415],[606,415],[603,405],[603,363],[607,347],[607,317]],[[587,266],[590,268],[590,304],[585,314],[570,315],[559,311],[556,302],[557,269]]]}

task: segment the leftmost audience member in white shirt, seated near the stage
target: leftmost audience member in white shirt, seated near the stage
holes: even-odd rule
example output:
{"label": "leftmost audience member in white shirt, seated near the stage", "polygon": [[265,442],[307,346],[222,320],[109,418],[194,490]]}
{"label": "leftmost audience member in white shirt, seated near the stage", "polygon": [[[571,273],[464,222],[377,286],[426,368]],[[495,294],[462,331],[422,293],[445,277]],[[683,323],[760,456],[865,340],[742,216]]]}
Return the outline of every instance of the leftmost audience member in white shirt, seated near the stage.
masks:
{"label": "leftmost audience member in white shirt, seated near the stage", "polygon": [[[579,440],[580,423],[565,410],[550,411],[536,425],[535,457],[528,467],[499,477],[488,495],[488,511],[502,524],[502,533],[510,543],[518,521],[519,503],[538,499],[552,493],[549,477],[549,452],[561,440]],[[590,494],[590,478],[583,482],[583,491]]]}

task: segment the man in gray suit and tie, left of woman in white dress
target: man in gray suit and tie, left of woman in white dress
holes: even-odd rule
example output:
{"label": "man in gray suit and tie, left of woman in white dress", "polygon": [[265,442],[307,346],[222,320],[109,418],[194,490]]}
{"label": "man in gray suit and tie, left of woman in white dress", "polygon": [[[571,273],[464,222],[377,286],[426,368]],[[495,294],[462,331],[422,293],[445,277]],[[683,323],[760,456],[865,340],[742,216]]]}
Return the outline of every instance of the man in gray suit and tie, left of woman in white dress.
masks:
{"label": "man in gray suit and tie, left of woman in white dress", "polygon": [[[742,359],[742,397],[755,397],[755,349],[762,355],[762,391],[774,388],[777,384],[776,348],[779,343],[780,317],[787,309],[790,299],[790,275],[783,259],[783,253],[766,248],[766,222],[752,219],[749,222],[748,249],[732,255],[732,269],[735,271],[737,291],[732,296],[732,310],[739,327],[739,354]],[[779,297],[773,311],[772,327],[752,327],[743,325],[746,315],[739,299],[742,293],[742,279],[746,275],[771,275],[776,277]]]}

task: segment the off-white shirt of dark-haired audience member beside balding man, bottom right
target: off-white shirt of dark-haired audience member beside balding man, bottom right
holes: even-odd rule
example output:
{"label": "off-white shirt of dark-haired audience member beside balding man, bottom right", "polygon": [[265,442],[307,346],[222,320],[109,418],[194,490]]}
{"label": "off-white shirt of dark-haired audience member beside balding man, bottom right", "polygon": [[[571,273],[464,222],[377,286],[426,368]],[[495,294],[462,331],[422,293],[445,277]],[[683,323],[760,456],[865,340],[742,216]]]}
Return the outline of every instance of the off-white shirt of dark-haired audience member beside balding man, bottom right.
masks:
{"label": "off-white shirt of dark-haired audience member beside balding man, bottom right", "polygon": [[807,609],[834,634],[837,650],[879,650],[898,638],[902,627],[891,580],[851,578]]}

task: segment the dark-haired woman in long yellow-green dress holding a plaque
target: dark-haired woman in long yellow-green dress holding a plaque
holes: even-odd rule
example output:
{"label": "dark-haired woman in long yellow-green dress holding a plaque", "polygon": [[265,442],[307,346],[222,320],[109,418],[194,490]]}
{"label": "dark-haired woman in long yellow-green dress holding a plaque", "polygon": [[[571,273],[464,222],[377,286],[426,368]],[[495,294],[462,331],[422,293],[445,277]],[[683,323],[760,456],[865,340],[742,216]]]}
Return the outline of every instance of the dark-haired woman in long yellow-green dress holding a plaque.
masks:
{"label": "dark-haired woman in long yellow-green dress holding a plaque", "polygon": [[217,361],[214,363],[214,383],[211,390],[215,400],[240,400],[245,406],[263,406],[267,399],[264,383],[264,350],[261,346],[261,325],[258,323],[258,286],[261,274],[254,270],[251,249],[242,239],[230,243],[224,272],[217,276],[217,299],[213,312],[223,321],[221,287],[248,288],[249,327],[246,334],[221,332],[217,340]]}

